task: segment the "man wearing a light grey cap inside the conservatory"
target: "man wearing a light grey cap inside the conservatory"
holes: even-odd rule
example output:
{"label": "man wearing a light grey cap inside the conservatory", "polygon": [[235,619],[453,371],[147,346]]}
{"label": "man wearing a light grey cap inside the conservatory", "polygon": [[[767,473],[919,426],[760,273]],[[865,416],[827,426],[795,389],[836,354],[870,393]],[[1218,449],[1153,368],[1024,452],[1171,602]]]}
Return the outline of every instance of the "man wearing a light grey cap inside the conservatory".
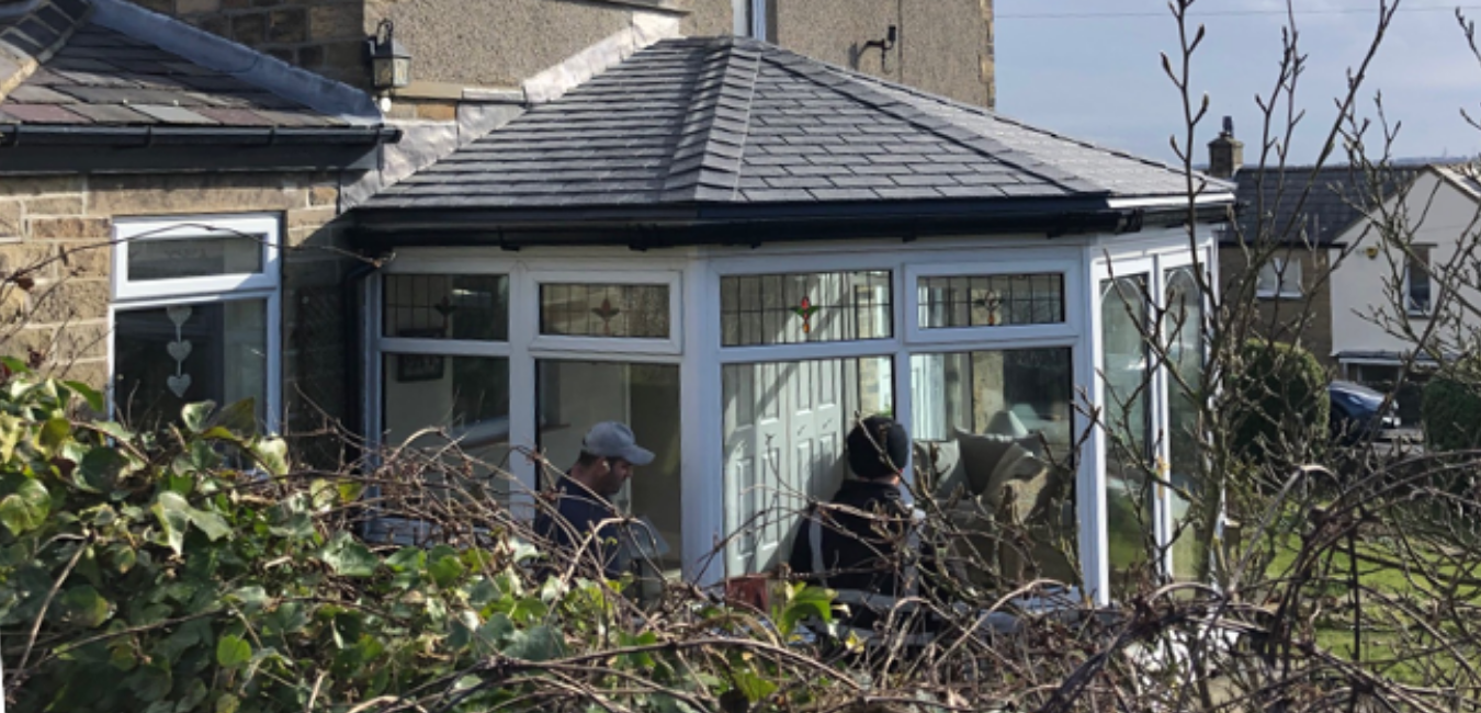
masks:
{"label": "man wearing a light grey cap inside the conservatory", "polygon": [[628,538],[616,522],[610,522],[618,511],[609,498],[622,491],[634,467],[650,462],[653,452],[637,445],[626,424],[603,421],[592,425],[581,442],[576,464],[555,483],[554,508],[542,507],[535,517],[535,532],[561,550],[582,550],[582,557],[595,554],[609,578],[622,577],[622,550]]}

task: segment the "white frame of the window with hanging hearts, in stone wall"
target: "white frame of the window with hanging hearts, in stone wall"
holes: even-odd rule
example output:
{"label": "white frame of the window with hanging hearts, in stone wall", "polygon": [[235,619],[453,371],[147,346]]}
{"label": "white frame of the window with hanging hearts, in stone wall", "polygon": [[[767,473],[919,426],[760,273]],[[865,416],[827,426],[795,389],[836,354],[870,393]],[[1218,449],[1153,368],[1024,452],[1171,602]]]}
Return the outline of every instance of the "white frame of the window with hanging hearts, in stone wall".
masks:
{"label": "white frame of the window with hanging hearts, in stone wall", "polygon": [[[163,280],[129,280],[129,246],[138,240],[182,240],[216,236],[264,236],[262,271]],[[113,227],[111,292],[108,304],[108,411],[116,408],[117,354],[113,329],[117,313],[170,305],[219,304],[261,299],[267,310],[267,374],[264,424],[277,433],[283,409],[283,282],[280,243],[283,219],[277,213],[182,215],[170,218],[118,218]]]}

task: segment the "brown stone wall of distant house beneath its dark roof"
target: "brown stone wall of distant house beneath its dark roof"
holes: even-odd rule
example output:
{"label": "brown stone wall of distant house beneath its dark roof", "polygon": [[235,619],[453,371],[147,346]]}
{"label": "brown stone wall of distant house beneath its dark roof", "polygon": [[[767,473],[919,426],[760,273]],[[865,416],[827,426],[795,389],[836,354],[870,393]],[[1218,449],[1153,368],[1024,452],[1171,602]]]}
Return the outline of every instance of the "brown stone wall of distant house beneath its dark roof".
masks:
{"label": "brown stone wall of distant house beneath its dark roof", "polygon": [[[1293,249],[1287,256],[1300,262],[1300,298],[1256,298],[1256,331],[1277,341],[1300,344],[1324,366],[1334,371],[1331,341],[1331,280],[1330,258],[1325,251]],[[1238,248],[1219,249],[1219,271],[1222,273],[1225,298],[1238,295],[1238,285],[1248,273],[1244,251]],[[1250,276],[1248,279],[1254,279]]]}

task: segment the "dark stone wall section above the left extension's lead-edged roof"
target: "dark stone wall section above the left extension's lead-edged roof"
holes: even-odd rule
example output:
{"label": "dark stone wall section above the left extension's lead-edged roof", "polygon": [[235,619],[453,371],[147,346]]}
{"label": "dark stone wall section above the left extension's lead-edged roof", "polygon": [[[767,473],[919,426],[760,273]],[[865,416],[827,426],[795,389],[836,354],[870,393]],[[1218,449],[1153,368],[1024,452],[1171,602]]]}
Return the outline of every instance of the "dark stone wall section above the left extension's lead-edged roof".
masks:
{"label": "dark stone wall section above the left extension's lead-edged roof", "polygon": [[361,0],[133,0],[351,86],[364,87]]}

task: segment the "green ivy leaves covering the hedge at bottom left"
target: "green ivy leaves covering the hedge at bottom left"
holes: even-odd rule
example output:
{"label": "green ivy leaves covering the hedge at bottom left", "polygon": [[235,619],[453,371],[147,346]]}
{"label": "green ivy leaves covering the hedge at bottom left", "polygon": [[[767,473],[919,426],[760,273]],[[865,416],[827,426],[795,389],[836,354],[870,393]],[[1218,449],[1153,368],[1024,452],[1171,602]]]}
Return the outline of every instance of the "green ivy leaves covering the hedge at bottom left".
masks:
{"label": "green ivy leaves covering the hedge at bottom left", "polygon": [[[706,655],[723,674],[680,664],[659,633],[628,630],[609,583],[532,586],[529,545],[360,541],[333,513],[354,507],[361,483],[290,474],[286,445],[253,431],[250,403],[190,405],[170,433],[135,434],[80,418],[83,403],[102,406],[84,385],[15,372],[0,382],[12,710],[345,712],[409,694],[487,710],[538,686],[539,663],[612,646],[641,649],[612,666],[669,692],[757,701],[779,689],[780,671],[749,655]],[[829,615],[831,593],[791,599],[788,627],[797,612]],[[726,608],[687,606],[695,630],[769,636]],[[504,676],[530,669],[505,685],[475,673],[490,657]],[[624,695],[629,710],[695,710],[668,694]]]}

